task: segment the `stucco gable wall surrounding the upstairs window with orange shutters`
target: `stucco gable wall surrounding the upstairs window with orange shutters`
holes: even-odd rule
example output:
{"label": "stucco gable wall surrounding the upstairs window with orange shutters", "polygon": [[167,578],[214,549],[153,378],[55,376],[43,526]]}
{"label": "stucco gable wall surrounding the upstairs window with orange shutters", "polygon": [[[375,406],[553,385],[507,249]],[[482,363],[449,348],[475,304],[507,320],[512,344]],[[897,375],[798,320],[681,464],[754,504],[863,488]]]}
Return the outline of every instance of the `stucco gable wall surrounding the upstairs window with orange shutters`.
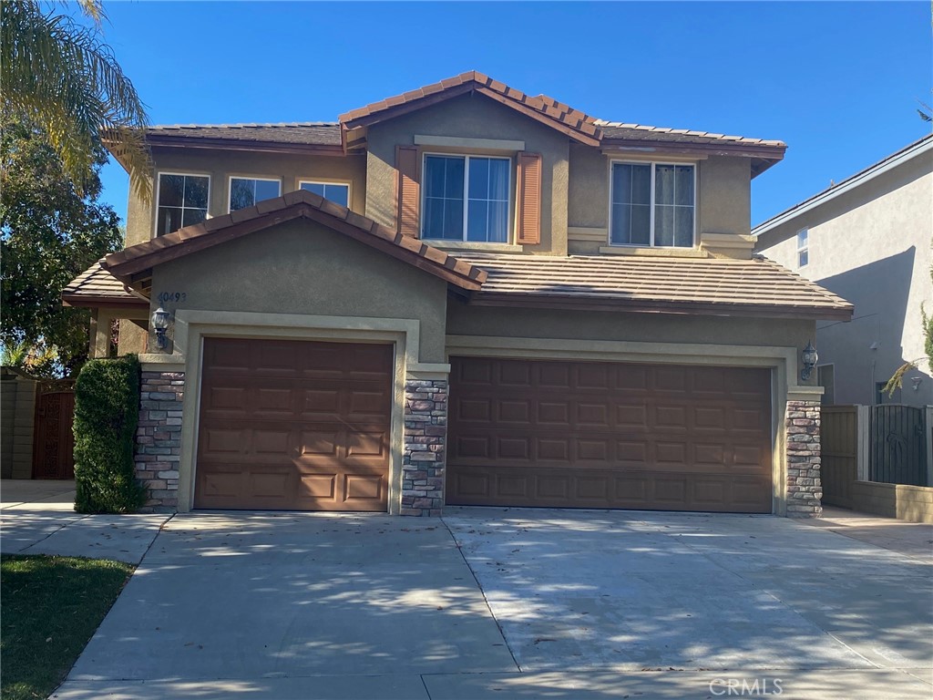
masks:
{"label": "stucco gable wall surrounding the upstairs window with orange shutters", "polygon": [[[396,226],[396,147],[411,146],[415,134],[523,141],[526,151],[540,153],[543,159],[541,243],[526,245],[525,251],[545,255],[566,253],[568,137],[480,94],[455,97],[448,102],[425,107],[369,128],[366,216],[385,226]],[[424,146],[419,147],[419,156],[425,151],[469,152],[509,156],[513,159],[510,242],[514,242],[516,151]]]}

